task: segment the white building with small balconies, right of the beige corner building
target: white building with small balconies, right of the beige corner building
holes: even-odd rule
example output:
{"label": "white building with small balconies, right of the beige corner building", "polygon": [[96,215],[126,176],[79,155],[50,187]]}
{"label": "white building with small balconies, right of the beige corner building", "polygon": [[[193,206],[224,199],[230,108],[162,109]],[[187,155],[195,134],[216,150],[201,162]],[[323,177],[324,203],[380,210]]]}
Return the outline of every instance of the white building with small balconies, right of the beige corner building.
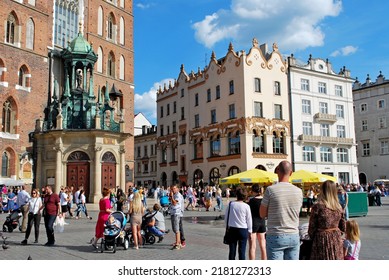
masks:
{"label": "white building with small balconies, right of the beige corner building", "polygon": [[345,68],[335,73],[328,60],[288,58],[292,162],[305,169],[358,183],[352,84]]}

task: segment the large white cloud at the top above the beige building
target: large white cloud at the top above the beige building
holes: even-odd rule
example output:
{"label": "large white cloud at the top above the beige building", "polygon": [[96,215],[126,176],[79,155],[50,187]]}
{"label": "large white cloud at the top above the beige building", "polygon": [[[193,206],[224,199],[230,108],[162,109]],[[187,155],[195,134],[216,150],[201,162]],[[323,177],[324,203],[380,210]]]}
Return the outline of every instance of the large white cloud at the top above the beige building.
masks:
{"label": "large white cloud at the top above the beige building", "polygon": [[223,39],[244,45],[256,37],[292,51],[322,46],[322,20],[338,16],[341,9],[339,0],[231,0],[230,9],[207,15],[192,28],[208,48]]}

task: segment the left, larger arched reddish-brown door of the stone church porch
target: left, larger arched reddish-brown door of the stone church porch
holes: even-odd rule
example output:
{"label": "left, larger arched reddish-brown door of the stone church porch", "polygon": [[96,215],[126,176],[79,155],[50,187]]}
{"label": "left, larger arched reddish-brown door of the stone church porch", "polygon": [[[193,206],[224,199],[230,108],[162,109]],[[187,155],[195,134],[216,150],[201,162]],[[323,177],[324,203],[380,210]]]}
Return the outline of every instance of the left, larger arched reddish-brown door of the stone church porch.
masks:
{"label": "left, larger arched reddish-brown door of the stone church porch", "polygon": [[73,152],[68,157],[67,162],[67,177],[66,182],[68,186],[74,187],[74,192],[77,191],[78,187],[83,186],[85,191],[85,197],[89,202],[89,156],[81,151]]}

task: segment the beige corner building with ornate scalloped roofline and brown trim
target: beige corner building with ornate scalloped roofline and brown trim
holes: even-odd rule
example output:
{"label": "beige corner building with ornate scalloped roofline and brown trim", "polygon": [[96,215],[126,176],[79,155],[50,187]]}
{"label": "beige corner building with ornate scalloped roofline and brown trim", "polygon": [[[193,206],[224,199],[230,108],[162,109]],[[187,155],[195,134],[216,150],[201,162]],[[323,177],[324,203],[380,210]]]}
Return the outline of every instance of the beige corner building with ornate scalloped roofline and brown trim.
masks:
{"label": "beige corner building with ornate scalloped roofline and brown trim", "polygon": [[273,44],[235,51],[157,92],[158,180],[218,184],[247,169],[290,160],[286,64]]}

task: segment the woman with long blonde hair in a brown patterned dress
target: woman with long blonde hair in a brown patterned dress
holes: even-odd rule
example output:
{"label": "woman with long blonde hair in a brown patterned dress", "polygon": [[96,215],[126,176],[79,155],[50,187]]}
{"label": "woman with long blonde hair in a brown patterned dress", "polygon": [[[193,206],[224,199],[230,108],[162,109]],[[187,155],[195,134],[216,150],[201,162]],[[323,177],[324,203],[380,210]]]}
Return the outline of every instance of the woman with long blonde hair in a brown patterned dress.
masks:
{"label": "woman with long blonde hair in a brown patterned dress", "polygon": [[343,260],[342,233],[346,221],[334,182],[325,181],[319,200],[312,206],[308,234],[312,240],[311,260]]}

